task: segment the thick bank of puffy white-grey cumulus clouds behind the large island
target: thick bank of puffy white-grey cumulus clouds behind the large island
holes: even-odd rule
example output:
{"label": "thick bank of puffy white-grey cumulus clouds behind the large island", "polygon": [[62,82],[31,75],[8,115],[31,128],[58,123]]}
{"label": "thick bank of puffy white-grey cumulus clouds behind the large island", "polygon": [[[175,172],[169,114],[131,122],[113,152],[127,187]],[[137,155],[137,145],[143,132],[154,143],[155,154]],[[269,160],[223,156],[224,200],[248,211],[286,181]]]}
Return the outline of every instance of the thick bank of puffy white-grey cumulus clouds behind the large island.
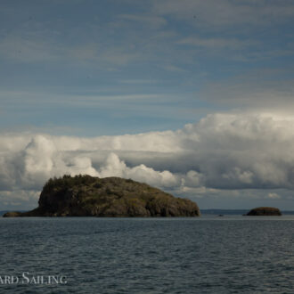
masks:
{"label": "thick bank of puffy white-grey cumulus clouds behind the large island", "polygon": [[182,194],[293,190],[293,123],[269,113],[223,113],[176,131],[138,135],[0,135],[0,191],[40,191],[50,177],[64,174],[122,176]]}

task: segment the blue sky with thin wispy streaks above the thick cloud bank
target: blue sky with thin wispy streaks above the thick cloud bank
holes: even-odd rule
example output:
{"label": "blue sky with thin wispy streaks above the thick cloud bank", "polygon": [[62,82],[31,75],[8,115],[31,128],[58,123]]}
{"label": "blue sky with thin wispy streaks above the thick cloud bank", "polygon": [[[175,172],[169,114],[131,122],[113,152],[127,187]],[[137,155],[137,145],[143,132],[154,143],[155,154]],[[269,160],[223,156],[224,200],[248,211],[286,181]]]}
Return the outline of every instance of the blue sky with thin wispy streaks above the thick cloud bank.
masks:
{"label": "blue sky with thin wispy streaks above the thick cloud bank", "polygon": [[293,79],[291,1],[2,1],[0,13],[3,131],[176,129]]}

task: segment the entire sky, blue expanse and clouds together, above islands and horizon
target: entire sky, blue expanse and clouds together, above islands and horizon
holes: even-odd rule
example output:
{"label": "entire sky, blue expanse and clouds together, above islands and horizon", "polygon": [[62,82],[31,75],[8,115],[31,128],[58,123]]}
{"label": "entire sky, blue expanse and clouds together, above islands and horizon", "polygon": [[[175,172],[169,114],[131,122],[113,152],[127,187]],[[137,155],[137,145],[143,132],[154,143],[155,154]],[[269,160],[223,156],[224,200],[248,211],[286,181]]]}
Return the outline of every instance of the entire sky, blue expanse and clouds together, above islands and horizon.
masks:
{"label": "entire sky, blue expanse and clouds together, above islands and horizon", "polygon": [[2,0],[0,210],[53,176],[294,210],[294,2]]}

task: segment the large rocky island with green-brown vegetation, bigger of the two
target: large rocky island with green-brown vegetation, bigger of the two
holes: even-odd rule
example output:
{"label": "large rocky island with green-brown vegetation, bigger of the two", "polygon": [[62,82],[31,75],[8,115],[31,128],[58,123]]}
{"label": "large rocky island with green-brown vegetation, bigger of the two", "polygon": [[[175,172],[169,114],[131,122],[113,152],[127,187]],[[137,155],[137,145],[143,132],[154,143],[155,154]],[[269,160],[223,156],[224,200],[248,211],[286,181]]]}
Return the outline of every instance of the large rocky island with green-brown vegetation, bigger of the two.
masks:
{"label": "large rocky island with green-brown vegetation, bigger of the two", "polygon": [[63,176],[45,184],[38,208],[4,216],[200,216],[200,209],[130,179]]}

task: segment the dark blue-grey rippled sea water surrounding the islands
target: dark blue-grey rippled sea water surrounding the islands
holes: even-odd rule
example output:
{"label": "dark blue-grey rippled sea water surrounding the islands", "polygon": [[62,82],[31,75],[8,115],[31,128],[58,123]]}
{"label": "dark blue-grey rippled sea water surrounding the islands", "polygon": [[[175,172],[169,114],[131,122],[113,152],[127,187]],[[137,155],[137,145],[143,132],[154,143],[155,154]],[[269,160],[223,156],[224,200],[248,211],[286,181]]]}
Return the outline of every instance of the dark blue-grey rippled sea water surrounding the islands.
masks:
{"label": "dark blue-grey rippled sea water surrounding the islands", "polygon": [[293,293],[293,226],[294,216],[1,218],[0,293]]}

